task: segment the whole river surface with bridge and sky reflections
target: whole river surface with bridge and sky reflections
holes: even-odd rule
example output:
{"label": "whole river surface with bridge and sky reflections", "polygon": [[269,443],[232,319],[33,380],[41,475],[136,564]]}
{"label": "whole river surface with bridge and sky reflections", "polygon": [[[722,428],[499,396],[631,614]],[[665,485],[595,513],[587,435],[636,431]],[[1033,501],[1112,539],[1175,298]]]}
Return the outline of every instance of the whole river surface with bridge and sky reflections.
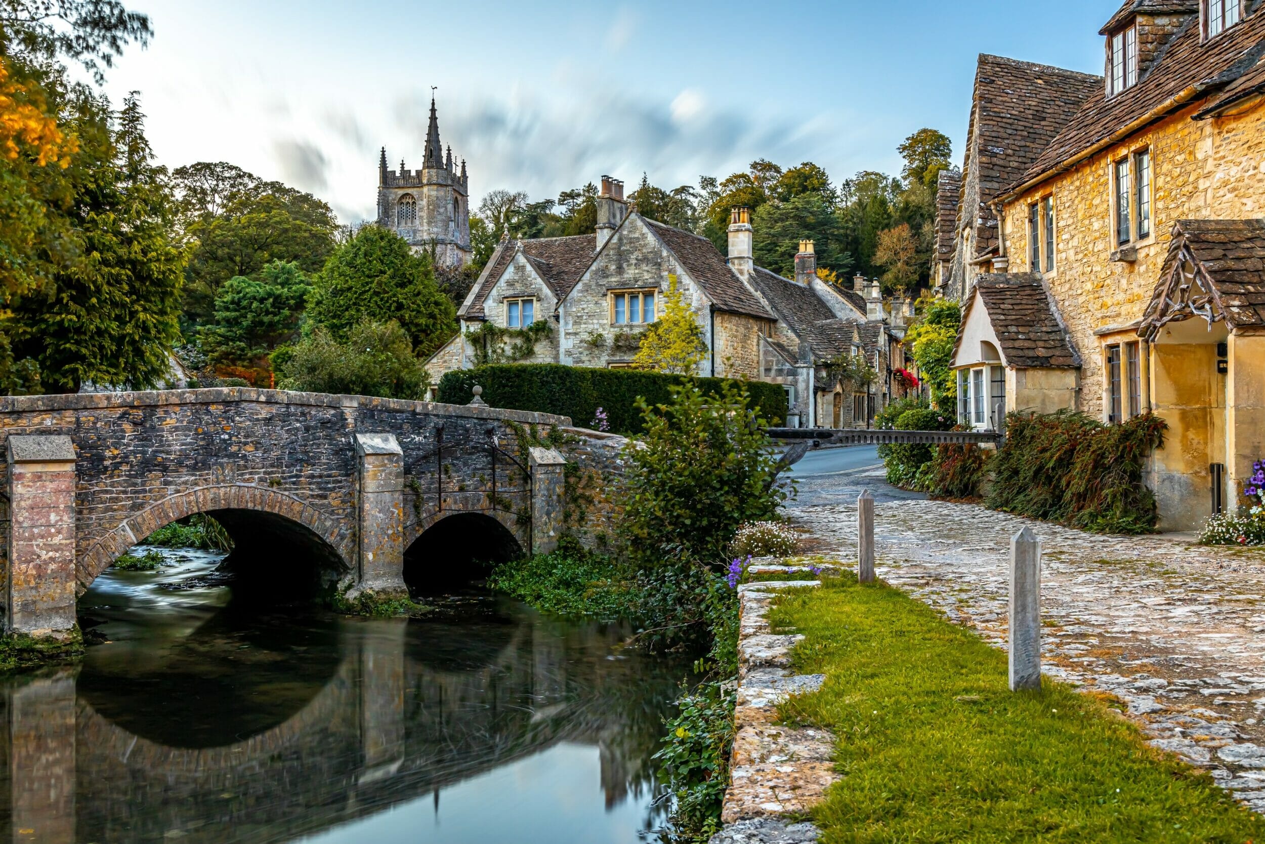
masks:
{"label": "whole river surface with bridge and sky reflections", "polygon": [[[0,681],[8,840],[638,841],[688,666],[472,593],[425,620],[261,611],[186,555],[81,601],[110,639]],[[190,582],[192,587],[190,588]]]}

